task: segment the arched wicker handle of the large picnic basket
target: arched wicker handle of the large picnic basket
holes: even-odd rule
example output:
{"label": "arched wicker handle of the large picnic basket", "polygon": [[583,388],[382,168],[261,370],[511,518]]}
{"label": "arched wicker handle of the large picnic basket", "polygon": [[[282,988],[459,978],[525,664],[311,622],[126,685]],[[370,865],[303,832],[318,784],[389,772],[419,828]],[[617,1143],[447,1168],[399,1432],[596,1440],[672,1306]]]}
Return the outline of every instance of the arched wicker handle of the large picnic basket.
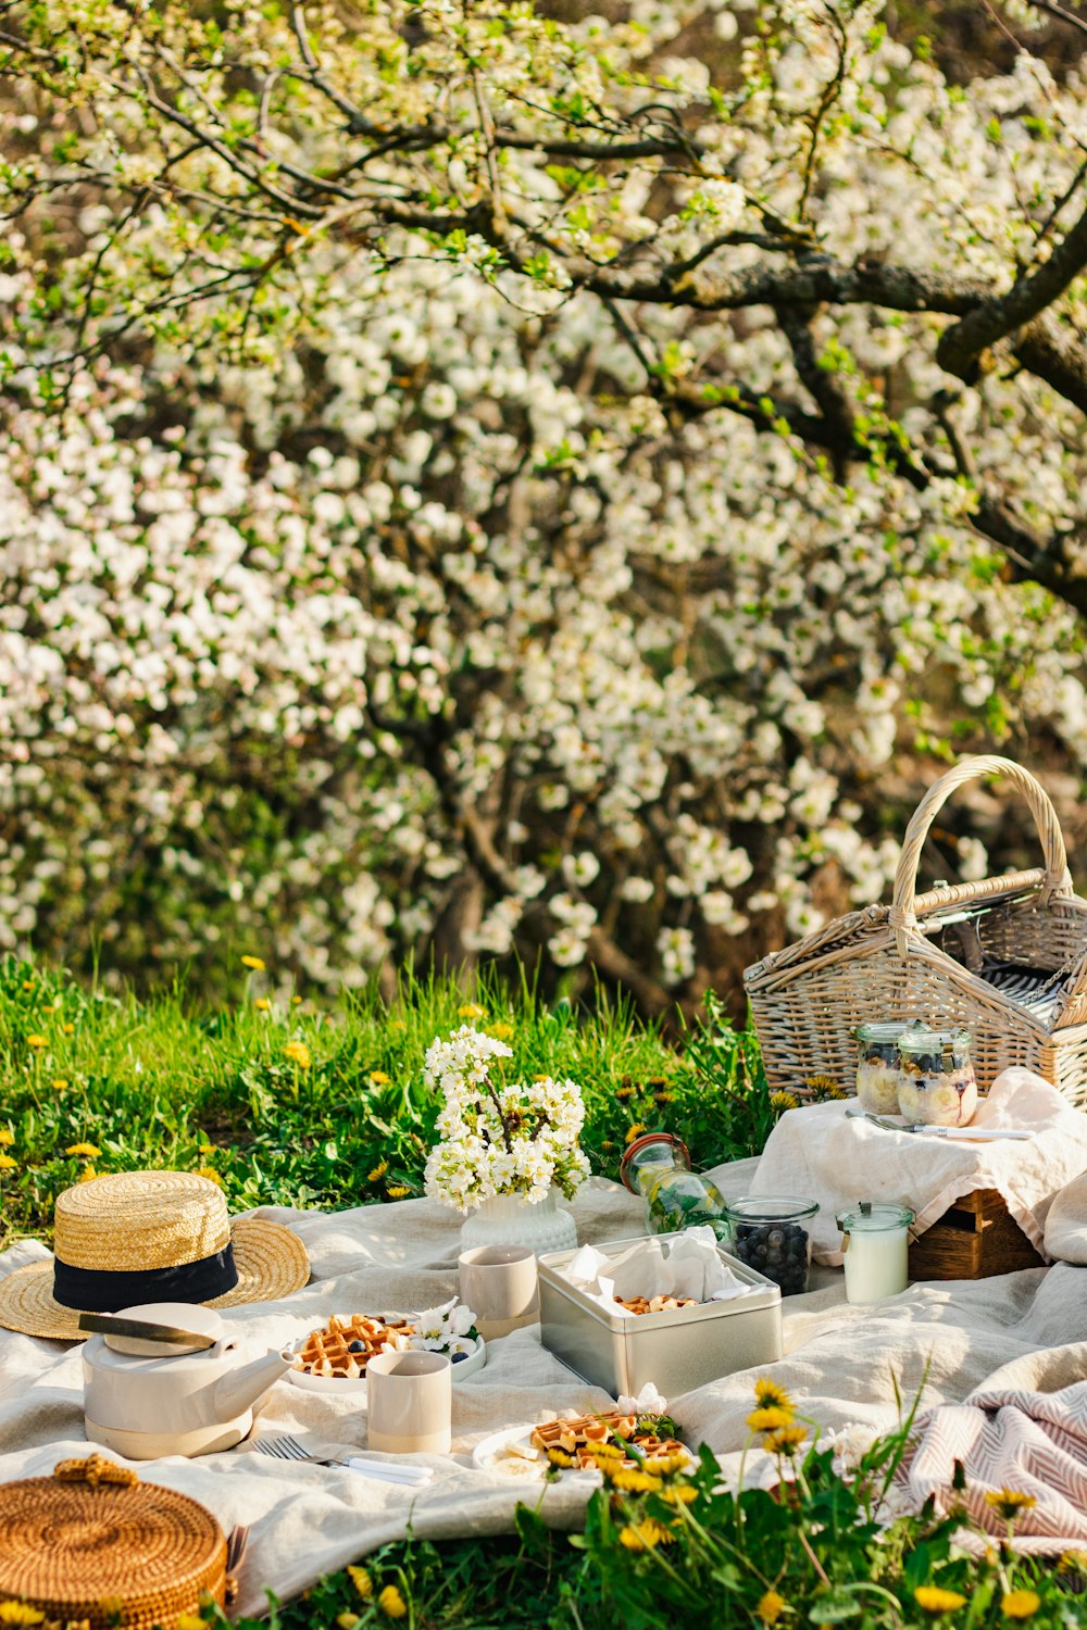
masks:
{"label": "arched wicker handle of the large picnic basket", "polygon": [[[1017,872],[1014,877],[988,879],[983,883],[958,883],[953,890],[937,890],[935,893],[924,895],[921,901],[918,901],[918,867],[921,864],[921,851],[924,849],[924,841],[929,836],[932,822],[944,808],[952,792],[966,786],[966,782],[979,781],[984,776],[1004,776],[1004,779],[1010,781],[1027,799],[1030,813],[1035,818],[1035,826],[1038,828],[1038,836],[1041,838],[1041,851],[1046,862],[1045,870],[1038,869],[1035,872]],[[1058,822],[1056,810],[1050,802],[1050,794],[1040,781],[1035,781],[1028,769],[1023,769],[1022,764],[1017,764],[1014,760],[999,758],[996,753],[979,753],[975,758],[963,758],[953,769],[948,769],[939,781],[934,781],[914,810],[913,820],[906,826],[903,852],[898,857],[898,870],[895,872],[895,900],[890,911],[890,926],[895,929],[898,949],[903,952],[906,950],[908,931],[918,926],[919,903],[922,911],[932,911],[935,906],[944,903],[983,900],[989,895],[1001,893],[1002,885],[1007,888],[1041,885],[1043,900],[1050,900],[1053,895],[1072,893],[1072,879],[1067,870],[1064,836],[1061,835],[1061,823]],[[944,900],[944,895],[948,896],[947,901]]]}

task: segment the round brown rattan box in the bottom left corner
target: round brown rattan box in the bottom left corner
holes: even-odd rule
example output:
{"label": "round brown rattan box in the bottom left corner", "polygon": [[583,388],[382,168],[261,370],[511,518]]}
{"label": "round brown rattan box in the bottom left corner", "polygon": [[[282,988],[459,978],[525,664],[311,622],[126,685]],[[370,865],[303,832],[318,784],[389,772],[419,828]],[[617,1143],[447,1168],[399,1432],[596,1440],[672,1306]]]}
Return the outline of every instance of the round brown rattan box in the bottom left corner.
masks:
{"label": "round brown rattan box in the bottom left corner", "polygon": [[227,1539],[187,1495],[98,1454],[0,1485],[0,1601],[90,1630],[173,1630],[209,1596],[227,1601]]}

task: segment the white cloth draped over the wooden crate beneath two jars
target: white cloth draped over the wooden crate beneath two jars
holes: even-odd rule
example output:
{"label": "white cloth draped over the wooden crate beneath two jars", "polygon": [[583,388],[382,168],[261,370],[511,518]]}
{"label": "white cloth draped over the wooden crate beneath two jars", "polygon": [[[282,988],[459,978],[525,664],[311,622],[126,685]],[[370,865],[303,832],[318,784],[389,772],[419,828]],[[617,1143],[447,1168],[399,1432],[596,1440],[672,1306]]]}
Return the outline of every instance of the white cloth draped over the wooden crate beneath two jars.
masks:
{"label": "white cloth draped over the wooden crate beneath two jars", "polygon": [[1087,1115],[1030,1069],[1006,1069],[981,1099],[975,1126],[1032,1130],[1030,1143],[957,1143],[885,1131],[847,1120],[857,1100],[787,1110],[774,1126],[751,1183],[755,1195],[818,1200],[812,1222],[816,1262],[838,1267],[841,1232],[834,1214],[859,1200],[898,1201],[924,1234],[948,1206],[975,1188],[996,1188],[1023,1234],[1046,1255],[1045,1222],[1054,1196],[1087,1170]]}

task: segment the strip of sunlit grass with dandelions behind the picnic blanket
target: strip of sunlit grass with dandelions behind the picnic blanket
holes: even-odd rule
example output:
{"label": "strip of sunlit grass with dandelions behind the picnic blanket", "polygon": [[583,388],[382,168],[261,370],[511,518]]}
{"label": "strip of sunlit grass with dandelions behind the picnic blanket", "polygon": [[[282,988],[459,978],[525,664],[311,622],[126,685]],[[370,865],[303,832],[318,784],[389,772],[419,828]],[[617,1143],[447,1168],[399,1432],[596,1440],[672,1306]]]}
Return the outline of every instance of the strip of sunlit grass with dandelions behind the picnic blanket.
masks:
{"label": "strip of sunlit grass with dandelions behind the picnic blanket", "polygon": [[[680,1133],[709,1165],[758,1151],[772,1123],[755,1037],[715,1009],[673,1043],[603,993],[575,1011],[548,1007],[528,983],[482,978],[464,994],[450,980],[404,978],[393,1002],[365,989],[324,1009],[269,1006],[266,989],[271,975],[238,965],[209,1009],[183,988],[137,1001],[0,962],[0,1139],[11,1139],[0,1151],[11,1162],[0,1172],[0,1247],[47,1236],[57,1193],[88,1172],[210,1170],[233,1209],[419,1195],[438,1110],[424,1053],[466,1017],[508,1040],[521,1079],[580,1084],[583,1144],[606,1177],[618,1177],[634,1126]],[[67,1152],[80,1146],[95,1152]]]}

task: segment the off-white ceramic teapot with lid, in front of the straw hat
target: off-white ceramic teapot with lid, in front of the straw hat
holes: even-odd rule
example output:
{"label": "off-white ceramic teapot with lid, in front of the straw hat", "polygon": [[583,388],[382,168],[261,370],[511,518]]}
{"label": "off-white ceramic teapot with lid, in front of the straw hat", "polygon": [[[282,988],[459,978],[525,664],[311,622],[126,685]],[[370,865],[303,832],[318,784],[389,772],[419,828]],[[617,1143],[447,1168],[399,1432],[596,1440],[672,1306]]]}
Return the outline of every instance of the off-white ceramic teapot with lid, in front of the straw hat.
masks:
{"label": "off-white ceramic teapot with lid, in front of the straw hat", "polygon": [[[117,1319],[173,1325],[194,1341],[93,1335],[83,1346],[86,1436],[130,1460],[231,1449],[253,1426],[253,1407],[293,1355],[249,1358],[231,1325],[189,1302],[147,1302]],[[210,1345],[209,1345],[210,1341]]]}

